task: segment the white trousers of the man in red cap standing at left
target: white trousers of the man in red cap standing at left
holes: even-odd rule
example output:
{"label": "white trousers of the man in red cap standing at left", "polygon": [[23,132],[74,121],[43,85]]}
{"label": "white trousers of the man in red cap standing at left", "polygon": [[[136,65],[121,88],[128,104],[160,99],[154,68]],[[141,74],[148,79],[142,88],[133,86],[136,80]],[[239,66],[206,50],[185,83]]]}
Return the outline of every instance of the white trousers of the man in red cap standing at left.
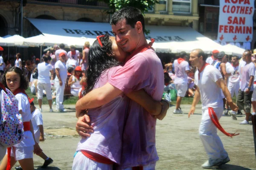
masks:
{"label": "white trousers of the man in red cap standing at left", "polygon": [[62,86],[60,82],[55,81],[54,87],[56,89],[56,110],[63,110],[63,99],[64,99],[64,90],[65,90],[66,80],[62,81]]}

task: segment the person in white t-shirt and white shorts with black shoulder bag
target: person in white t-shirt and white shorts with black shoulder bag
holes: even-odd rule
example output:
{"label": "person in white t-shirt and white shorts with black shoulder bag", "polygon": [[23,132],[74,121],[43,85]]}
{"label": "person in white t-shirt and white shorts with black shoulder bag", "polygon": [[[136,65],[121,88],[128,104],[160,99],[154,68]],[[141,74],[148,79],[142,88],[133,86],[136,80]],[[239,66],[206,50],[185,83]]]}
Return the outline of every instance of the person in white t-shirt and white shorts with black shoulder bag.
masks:
{"label": "person in white t-shirt and white shorts with black shoulder bag", "polygon": [[50,82],[50,73],[52,74],[52,65],[50,65],[51,57],[44,55],[44,62],[38,64],[38,104],[39,110],[42,112],[42,99],[43,99],[43,90],[46,91],[46,97],[49,103],[50,112],[52,111],[52,91],[51,91],[51,82]]}

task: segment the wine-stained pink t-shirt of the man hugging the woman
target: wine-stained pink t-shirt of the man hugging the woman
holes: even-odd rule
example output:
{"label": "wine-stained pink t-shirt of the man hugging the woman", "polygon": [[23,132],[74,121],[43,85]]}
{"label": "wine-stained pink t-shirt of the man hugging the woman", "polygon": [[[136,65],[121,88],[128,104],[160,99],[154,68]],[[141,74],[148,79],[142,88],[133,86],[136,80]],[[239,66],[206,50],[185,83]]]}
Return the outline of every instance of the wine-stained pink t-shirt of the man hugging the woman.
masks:
{"label": "wine-stained pink t-shirt of the man hugging the woman", "polygon": [[[163,66],[152,49],[132,57],[117,69],[108,82],[125,94],[144,89],[154,100],[161,99],[164,88]],[[121,168],[156,162],[156,119],[142,106],[130,101],[122,137]]]}

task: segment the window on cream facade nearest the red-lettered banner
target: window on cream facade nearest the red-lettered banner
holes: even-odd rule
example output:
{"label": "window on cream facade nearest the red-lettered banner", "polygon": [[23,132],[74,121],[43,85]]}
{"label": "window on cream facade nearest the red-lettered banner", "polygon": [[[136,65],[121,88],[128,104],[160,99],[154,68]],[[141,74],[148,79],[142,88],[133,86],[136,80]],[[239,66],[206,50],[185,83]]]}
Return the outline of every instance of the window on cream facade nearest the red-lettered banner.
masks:
{"label": "window on cream facade nearest the red-lettered banner", "polygon": [[191,0],[172,0],[172,11],[191,13]]}

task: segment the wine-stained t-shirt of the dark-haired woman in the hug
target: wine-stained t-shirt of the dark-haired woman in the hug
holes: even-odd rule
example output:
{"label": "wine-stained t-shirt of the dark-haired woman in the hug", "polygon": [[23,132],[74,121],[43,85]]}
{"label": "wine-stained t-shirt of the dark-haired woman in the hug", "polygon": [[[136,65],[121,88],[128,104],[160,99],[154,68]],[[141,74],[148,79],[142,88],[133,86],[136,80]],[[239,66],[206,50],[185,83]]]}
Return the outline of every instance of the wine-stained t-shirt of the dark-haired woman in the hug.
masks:
{"label": "wine-stained t-shirt of the dark-haired woman in the hug", "polygon": [[[120,67],[110,68],[102,74],[94,88],[100,88],[105,85],[113,72]],[[91,133],[90,138],[81,139],[77,150],[98,153],[120,164],[122,132],[129,100],[127,96],[120,94],[106,105],[89,109],[88,115],[94,132]]]}

